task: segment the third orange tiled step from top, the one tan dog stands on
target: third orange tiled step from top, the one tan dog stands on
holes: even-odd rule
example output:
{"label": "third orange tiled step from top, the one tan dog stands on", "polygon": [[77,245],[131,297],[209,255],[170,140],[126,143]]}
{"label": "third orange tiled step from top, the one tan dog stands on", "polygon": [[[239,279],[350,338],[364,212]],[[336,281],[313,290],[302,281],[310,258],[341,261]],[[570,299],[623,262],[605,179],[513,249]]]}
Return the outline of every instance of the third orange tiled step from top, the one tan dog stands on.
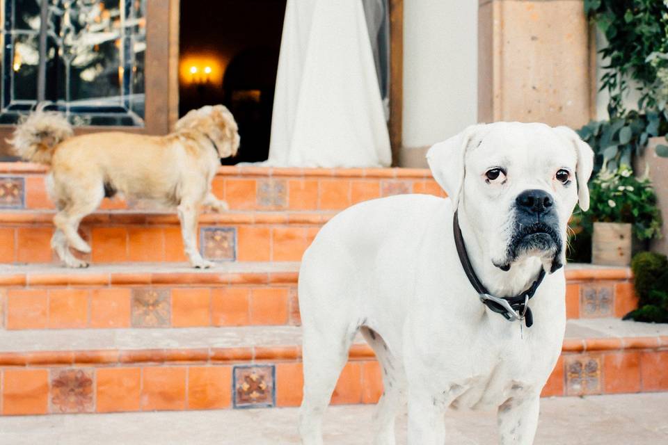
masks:
{"label": "third orange tiled step from top, the one tan dog stands on", "polygon": [[[0,328],[299,325],[294,262],[125,264],[72,270],[0,266]],[[626,268],[568,266],[568,318],[623,316],[635,308]]]}

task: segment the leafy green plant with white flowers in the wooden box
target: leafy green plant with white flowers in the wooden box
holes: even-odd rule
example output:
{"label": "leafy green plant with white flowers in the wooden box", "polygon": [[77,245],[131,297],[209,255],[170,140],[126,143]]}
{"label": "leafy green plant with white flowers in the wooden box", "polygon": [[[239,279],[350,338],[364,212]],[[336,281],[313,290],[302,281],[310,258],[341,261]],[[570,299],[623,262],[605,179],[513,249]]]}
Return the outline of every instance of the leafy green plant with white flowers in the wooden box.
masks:
{"label": "leafy green plant with white flowers in the wooden box", "polygon": [[628,165],[611,172],[603,168],[589,184],[590,210],[581,224],[591,233],[591,225],[631,223],[639,240],[661,236],[661,216],[656,195],[648,178],[638,179]]}

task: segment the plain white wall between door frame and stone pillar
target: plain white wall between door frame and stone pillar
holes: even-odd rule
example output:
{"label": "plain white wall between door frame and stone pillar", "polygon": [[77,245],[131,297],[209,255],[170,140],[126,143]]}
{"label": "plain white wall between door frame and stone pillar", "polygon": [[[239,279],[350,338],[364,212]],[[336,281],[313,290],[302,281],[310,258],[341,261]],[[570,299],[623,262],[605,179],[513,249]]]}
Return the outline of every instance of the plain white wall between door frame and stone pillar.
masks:
{"label": "plain white wall between door frame and stone pillar", "polygon": [[404,0],[403,145],[477,122],[478,0]]}

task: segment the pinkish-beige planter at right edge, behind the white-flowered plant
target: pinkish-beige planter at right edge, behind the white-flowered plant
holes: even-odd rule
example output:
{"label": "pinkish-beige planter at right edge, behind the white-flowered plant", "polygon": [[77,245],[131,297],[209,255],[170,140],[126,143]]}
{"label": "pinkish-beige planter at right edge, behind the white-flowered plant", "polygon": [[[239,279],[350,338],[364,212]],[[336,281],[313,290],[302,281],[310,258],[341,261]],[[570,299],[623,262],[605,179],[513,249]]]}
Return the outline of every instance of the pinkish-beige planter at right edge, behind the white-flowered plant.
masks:
{"label": "pinkish-beige planter at right edge, behind the white-flowered plant", "polygon": [[635,156],[633,170],[637,176],[649,172],[663,220],[662,237],[651,241],[650,250],[668,255],[668,158],[656,154],[655,148],[660,144],[668,145],[666,138],[651,138],[642,156]]}

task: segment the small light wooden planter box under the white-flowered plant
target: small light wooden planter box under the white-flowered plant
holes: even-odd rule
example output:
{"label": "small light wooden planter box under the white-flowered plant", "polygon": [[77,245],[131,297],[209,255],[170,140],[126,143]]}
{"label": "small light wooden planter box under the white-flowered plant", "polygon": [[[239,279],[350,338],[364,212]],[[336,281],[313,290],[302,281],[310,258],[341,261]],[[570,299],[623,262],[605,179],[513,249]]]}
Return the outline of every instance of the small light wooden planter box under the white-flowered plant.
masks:
{"label": "small light wooden planter box under the white-flowered plant", "polygon": [[628,223],[594,223],[591,237],[591,263],[601,266],[631,264],[631,225]]}

